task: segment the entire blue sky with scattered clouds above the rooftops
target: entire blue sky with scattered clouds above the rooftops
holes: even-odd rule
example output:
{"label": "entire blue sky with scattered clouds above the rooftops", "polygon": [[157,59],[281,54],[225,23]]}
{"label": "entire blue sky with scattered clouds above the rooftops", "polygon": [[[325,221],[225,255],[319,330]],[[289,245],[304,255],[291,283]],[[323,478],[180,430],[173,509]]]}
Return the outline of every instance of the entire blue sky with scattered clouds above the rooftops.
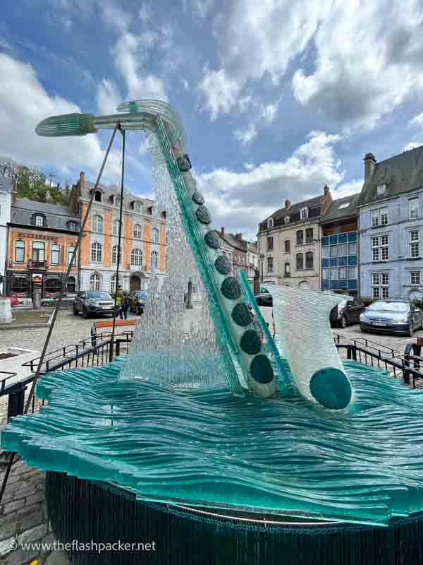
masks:
{"label": "entire blue sky with scattered clouds above the rooftops", "polygon": [[[362,157],[423,143],[423,1],[16,0],[0,20],[0,155],[94,179],[107,136],[35,136],[51,114],[178,109],[216,227],[360,190]],[[151,194],[140,134],[126,186]],[[118,145],[106,170],[118,182]]]}

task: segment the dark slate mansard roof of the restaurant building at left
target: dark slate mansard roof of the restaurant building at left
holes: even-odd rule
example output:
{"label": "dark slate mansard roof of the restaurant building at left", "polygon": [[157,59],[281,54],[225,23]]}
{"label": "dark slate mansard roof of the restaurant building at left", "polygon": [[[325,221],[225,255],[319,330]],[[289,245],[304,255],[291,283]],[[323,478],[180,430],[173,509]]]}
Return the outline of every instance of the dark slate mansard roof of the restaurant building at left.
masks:
{"label": "dark slate mansard roof of the restaurant building at left", "polygon": [[[46,225],[39,227],[40,230],[61,230],[70,231],[68,222],[78,222],[80,219],[77,215],[68,213],[66,206],[56,206],[56,204],[46,204],[35,200],[27,200],[26,198],[16,198],[16,202],[11,206],[11,224],[35,227],[32,223],[32,215],[42,213],[46,217]],[[75,233],[75,232],[73,232]]]}

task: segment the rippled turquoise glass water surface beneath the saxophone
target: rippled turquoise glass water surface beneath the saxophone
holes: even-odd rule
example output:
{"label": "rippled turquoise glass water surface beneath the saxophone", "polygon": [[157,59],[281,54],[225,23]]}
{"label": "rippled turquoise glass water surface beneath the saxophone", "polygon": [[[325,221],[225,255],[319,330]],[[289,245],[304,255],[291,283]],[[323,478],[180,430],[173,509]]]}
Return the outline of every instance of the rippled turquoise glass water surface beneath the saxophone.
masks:
{"label": "rippled turquoise glass water surface beneath the saxophone", "polygon": [[381,525],[423,510],[423,392],[384,371],[345,363],[356,400],[339,414],[118,379],[124,361],[43,377],[49,404],[14,418],[2,448],[147,501]]}

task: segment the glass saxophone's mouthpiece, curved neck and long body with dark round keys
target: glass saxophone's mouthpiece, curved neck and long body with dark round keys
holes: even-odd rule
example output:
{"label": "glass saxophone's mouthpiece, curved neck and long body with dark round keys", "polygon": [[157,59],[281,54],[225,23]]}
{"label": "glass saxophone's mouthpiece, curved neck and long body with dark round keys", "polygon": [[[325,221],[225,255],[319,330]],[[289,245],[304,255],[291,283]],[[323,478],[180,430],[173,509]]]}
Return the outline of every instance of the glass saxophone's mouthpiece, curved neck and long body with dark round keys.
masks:
{"label": "glass saxophone's mouthpiece, curved neck and long body with dark round keys", "polygon": [[[289,370],[283,364],[275,363],[269,347],[264,347],[252,323],[240,283],[231,274],[231,263],[220,251],[219,237],[211,229],[212,218],[204,196],[197,191],[190,172],[185,133],[177,112],[156,100],[125,102],[118,107],[118,112],[122,113],[104,117],[92,114],[51,117],[42,121],[36,131],[42,136],[85,135],[119,123],[122,129],[154,132],[176,191],[188,243],[207,292],[228,386],[235,393],[249,389],[266,398],[274,396],[279,382],[279,393],[285,393]],[[332,383],[333,379],[326,386],[330,388]]]}

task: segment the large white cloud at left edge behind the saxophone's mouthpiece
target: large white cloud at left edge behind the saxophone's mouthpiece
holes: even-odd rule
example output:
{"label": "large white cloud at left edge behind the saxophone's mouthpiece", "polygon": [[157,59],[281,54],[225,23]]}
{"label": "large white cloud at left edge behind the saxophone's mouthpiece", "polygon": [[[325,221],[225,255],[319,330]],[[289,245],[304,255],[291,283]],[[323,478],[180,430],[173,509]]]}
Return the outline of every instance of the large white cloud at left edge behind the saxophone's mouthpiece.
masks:
{"label": "large white cloud at left edge behind the saxophone's mouthpiece", "polygon": [[[50,96],[42,87],[29,64],[0,54],[0,76],[7,76],[0,88],[0,127],[7,136],[0,139],[0,155],[27,165],[63,167],[96,171],[104,151],[95,135],[70,138],[43,138],[35,133],[42,119],[57,114],[80,112],[80,108],[63,97]],[[121,157],[111,151],[106,178],[118,178]]]}

